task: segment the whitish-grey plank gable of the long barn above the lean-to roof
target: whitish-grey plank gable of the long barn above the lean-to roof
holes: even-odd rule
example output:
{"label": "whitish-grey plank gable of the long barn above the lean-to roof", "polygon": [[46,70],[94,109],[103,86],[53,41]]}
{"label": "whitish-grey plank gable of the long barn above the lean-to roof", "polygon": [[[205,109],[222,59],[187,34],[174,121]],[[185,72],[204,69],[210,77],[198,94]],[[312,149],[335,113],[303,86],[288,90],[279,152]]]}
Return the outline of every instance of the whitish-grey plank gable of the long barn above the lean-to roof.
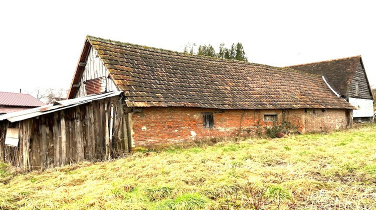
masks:
{"label": "whitish-grey plank gable of the long barn above the lean-to roof", "polygon": [[106,91],[118,90],[111,78],[108,78],[109,71],[104,66],[97,51],[90,47],[89,54],[86,58],[85,69],[82,72],[80,79],[80,87],[77,90],[75,97],[82,97],[87,95],[84,82],[89,79],[95,79],[101,76],[106,77]]}

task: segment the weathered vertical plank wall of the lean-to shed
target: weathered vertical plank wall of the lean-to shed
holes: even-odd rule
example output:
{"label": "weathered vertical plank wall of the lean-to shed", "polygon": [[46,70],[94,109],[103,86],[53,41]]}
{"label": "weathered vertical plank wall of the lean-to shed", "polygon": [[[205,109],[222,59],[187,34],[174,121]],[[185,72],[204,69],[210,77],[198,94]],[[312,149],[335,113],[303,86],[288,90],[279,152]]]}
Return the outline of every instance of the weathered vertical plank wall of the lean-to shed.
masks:
{"label": "weathered vertical plank wall of the lean-to shed", "polygon": [[18,147],[4,144],[11,123],[0,121],[0,161],[34,170],[117,157],[128,152],[126,117],[112,97],[22,120]]}

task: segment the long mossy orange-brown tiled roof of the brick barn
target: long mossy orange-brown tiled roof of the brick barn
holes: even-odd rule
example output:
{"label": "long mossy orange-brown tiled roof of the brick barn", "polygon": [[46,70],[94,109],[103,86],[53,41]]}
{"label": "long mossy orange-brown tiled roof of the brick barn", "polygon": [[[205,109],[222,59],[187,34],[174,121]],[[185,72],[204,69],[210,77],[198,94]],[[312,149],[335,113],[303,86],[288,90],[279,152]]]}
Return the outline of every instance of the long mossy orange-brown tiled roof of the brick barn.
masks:
{"label": "long mossy orange-brown tiled roof of the brick barn", "polygon": [[93,36],[87,40],[125,91],[128,106],[353,108],[321,76]]}

